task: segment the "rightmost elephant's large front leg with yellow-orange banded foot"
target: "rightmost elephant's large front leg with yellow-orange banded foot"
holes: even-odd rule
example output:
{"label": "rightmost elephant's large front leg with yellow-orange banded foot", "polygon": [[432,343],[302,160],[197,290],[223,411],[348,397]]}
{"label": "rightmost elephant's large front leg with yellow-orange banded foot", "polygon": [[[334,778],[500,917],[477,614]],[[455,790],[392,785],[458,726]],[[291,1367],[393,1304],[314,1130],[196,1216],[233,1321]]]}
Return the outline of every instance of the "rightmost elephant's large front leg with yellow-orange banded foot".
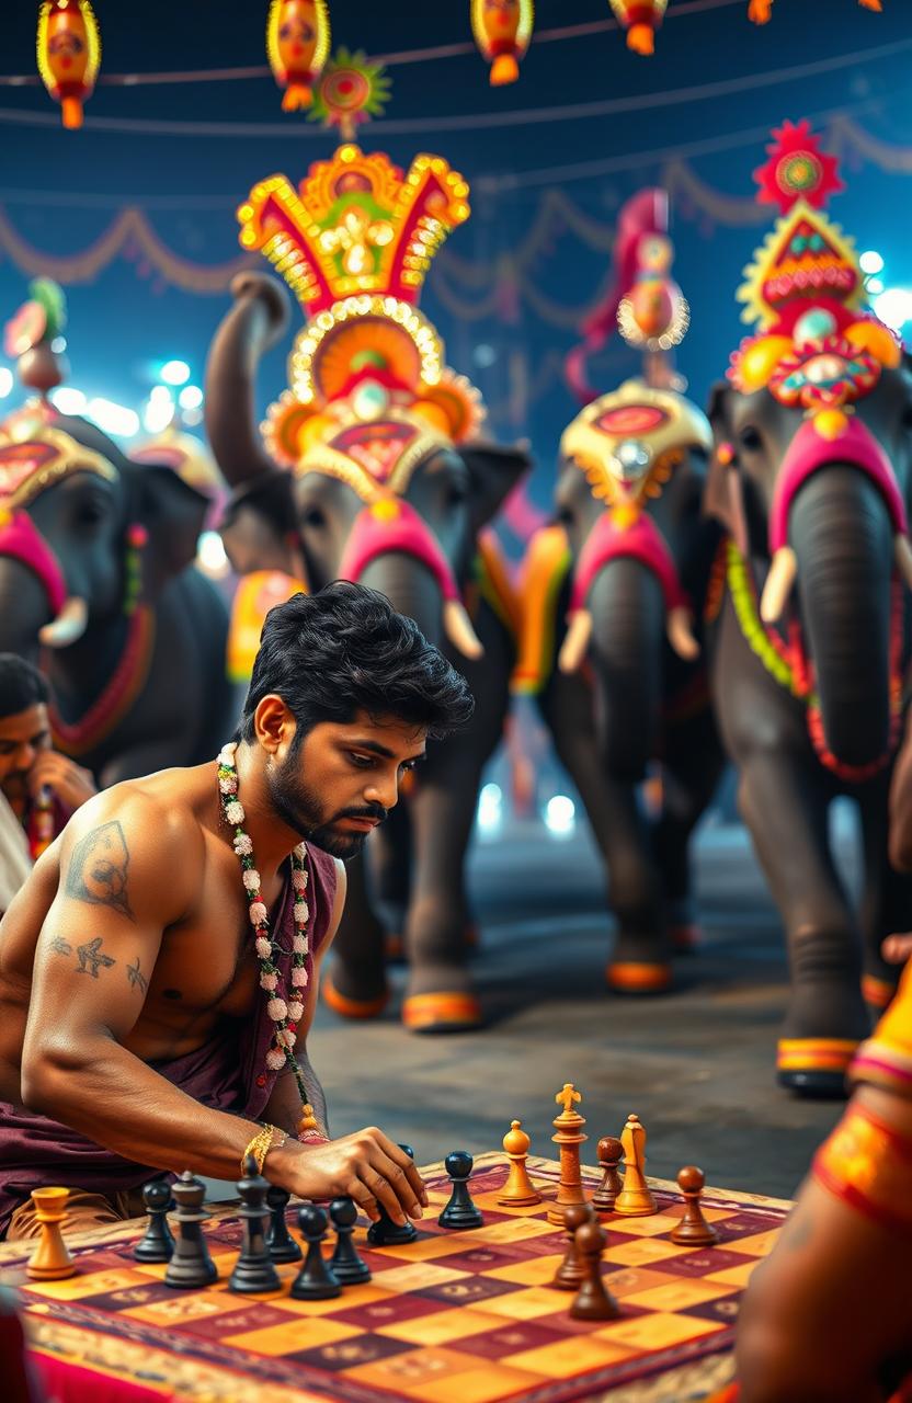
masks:
{"label": "rightmost elephant's large front leg with yellow-orange banded foot", "polygon": [[742,765],[738,798],[786,927],[791,992],[779,1082],[808,1096],[845,1094],[870,1020],[860,936],[829,846],[829,796],[797,756],[763,749]]}

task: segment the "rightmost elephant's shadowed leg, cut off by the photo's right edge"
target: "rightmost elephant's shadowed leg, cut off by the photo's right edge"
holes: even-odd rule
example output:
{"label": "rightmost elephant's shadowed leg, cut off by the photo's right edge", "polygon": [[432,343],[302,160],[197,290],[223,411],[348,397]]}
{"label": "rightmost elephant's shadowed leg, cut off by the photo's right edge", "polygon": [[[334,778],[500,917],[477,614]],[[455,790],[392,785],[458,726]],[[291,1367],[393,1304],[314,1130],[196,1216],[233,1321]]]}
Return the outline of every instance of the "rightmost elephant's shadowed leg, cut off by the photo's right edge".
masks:
{"label": "rightmost elephant's shadowed leg, cut off by the photo's right edge", "polygon": [[912,930],[912,877],[898,873],[890,863],[885,780],[874,793],[863,796],[860,812],[864,843],[861,991],[871,1014],[878,1017],[892,999],[901,972],[898,965],[887,964],[881,944],[885,936]]}

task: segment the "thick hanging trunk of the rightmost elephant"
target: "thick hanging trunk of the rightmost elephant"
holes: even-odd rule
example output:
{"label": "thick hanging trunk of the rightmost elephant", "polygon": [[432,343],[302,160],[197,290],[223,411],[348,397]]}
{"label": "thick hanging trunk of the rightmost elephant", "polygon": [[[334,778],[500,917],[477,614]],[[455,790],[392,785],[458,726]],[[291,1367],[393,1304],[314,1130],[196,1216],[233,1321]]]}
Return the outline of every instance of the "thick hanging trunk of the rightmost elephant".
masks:
{"label": "thick hanging trunk of the rightmost elephant", "polygon": [[894,530],[877,483],[856,464],[814,473],[789,516],[824,738],[843,765],[871,765],[890,742]]}

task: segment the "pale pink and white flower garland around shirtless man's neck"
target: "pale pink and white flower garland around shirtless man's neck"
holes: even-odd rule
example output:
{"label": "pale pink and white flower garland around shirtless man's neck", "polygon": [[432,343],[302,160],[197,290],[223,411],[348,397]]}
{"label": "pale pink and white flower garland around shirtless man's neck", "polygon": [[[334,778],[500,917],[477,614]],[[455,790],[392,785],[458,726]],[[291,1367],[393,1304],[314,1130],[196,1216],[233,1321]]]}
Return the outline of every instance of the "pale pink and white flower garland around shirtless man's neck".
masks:
{"label": "pale pink and white flower garland around shirtless man's neck", "polygon": [[[271,1072],[279,1072],[285,1065],[295,1073],[297,1090],[304,1108],[304,1122],[302,1129],[316,1127],[313,1111],[307,1103],[307,1087],[297,1058],[295,1056],[295,1042],[297,1041],[297,1023],[303,1016],[303,989],[307,985],[307,870],[304,867],[304,845],[300,843],[292,853],[292,885],[295,888],[295,936],[292,939],[292,988],[290,998],[285,1000],[279,991],[279,969],[272,954],[275,943],[269,936],[269,913],[260,898],[261,877],[254,860],[254,845],[250,835],[244,832],[244,807],[237,797],[237,769],[234,765],[236,742],[223,746],[219,759],[219,800],[226,824],[234,829],[233,847],[241,864],[241,881],[247,892],[250,923],[257,939],[257,958],[260,961],[260,988],[268,995],[267,1013],[275,1024],[272,1030],[272,1045],[267,1052],[267,1066]],[[310,1120],[311,1125],[306,1121]]]}

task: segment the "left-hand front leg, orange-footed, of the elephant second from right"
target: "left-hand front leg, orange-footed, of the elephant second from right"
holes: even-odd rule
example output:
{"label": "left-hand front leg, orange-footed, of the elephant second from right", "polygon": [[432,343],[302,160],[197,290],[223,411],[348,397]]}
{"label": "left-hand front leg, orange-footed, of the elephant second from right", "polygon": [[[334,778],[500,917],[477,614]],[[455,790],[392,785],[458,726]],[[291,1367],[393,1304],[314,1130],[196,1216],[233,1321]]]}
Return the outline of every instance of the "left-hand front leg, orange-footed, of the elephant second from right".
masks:
{"label": "left-hand front leg, orange-footed, of the elephant second from right", "polygon": [[608,905],[617,926],[608,985],[616,993],[661,993],[671,985],[662,882],[637,788],[605,773],[586,682],[556,676],[542,709],[605,859]]}

